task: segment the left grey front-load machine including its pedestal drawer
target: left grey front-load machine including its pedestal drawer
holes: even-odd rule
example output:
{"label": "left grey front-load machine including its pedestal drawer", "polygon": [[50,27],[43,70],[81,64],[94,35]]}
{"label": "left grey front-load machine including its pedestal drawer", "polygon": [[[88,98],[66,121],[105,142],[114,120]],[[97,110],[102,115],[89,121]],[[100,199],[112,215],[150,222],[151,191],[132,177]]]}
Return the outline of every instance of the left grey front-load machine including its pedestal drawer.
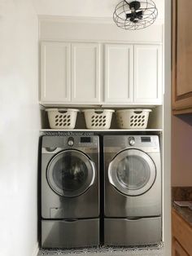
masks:
{"label": "left grey front-load machine including its pedestal drawer", "polygon": [[43,136],[41,247],[99,245],[99,208],[98,136]]}

